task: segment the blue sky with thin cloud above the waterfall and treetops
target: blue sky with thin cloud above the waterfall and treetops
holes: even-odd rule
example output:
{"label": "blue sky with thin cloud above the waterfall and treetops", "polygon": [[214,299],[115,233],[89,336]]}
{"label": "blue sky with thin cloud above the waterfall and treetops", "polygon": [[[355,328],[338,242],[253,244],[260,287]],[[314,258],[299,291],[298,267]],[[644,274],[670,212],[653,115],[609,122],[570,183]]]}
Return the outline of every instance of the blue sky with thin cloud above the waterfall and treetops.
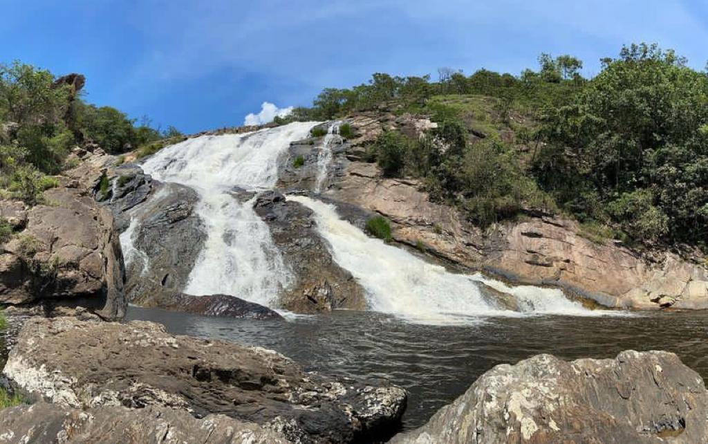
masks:
{"label": "blue sky with thin cloud above the waterfall and treetops", "polygon": [[0,60],[81,72],[86,99],[185,132],[241,125],[261,103],[309,105],[373,72],[518,74],[540,52],[598,72],[629,42],[673,47],[702,69],[698,0],[6,0]]}

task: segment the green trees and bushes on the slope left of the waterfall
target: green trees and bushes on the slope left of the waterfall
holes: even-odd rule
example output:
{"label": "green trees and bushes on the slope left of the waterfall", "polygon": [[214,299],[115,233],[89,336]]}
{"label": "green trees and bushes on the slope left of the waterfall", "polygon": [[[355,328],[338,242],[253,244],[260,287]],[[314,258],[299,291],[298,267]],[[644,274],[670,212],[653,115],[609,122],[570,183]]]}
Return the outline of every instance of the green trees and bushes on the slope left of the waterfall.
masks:
{"label": "green trees and bushes on the slope left of the waterfall", "polygon": [[180,135],[173,127],[154,129],[147,118],[137,124],[115,108],[86,103],[70,83],[29,64],[0,64],[3,195],[40,203],[42,191],[57,186],[49,176],[75,166],[69,152],[76,144],[93,141],[107,152],[120,153]]}

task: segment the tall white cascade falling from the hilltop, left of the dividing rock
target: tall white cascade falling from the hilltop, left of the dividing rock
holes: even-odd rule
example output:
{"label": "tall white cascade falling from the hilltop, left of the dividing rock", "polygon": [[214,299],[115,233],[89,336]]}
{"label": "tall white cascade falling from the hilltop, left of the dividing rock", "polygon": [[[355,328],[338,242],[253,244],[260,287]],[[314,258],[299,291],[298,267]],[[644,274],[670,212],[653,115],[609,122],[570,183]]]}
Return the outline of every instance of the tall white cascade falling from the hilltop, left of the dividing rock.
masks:
{"label": "tall white cascade falling from the hilltop, left of the dividing rock", "polygon": [[278,159],[293,140],[307,137],[314,123],[291,123],[244,135],[202,136],[166,147],[143,165],[164,182],[181,183],[200,195],[196,211],[207,241],[190,273],[185,292],[225,294],[268,305],[290,283],[268,225],[253,201],[229,193],[273,188]]}

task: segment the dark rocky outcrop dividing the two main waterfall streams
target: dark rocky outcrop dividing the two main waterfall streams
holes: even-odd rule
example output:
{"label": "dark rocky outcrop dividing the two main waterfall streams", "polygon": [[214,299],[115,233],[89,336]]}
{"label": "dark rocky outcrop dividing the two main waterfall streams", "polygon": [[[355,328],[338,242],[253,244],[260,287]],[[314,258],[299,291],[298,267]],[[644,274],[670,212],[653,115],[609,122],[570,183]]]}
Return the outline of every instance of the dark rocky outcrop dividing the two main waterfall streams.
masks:
{"label": "dark rocky outcrop dividing the two main waterfall streams", "polygon": [[281,295],[280,307],[297,313],[366,309],[364,291],[351,273],[337,265],[317,234],[312,210],[275,191],[259,195],[254,209],[268,223],[296,278]]}

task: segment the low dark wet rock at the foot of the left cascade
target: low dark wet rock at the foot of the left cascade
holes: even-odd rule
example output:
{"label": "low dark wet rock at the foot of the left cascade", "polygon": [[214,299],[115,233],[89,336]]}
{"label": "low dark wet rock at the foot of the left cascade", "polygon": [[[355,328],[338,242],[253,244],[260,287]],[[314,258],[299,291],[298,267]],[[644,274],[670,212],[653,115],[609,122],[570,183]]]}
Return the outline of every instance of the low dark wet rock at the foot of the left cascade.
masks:
{"label": "low dark wet rock at the foot of the left cascade", "polygon": [[282,319],[278,312],[268,307],[229,295],[193,296],[181,293],[165,300],[161,308],[205,316]]}

